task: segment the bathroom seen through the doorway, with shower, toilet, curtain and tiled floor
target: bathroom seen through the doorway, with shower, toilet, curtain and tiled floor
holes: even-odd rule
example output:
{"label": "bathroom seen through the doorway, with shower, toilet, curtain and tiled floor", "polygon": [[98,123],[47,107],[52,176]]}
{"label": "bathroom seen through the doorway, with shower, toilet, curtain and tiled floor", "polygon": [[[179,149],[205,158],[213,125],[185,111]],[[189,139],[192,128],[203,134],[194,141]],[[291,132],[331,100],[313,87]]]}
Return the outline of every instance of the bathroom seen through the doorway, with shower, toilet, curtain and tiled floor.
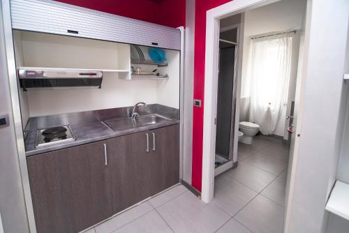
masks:
{"label": "bathroom seen through the doorway, with shower, toilet, curtain and tiled floor", "polygon": [[283,0],[220,22],[213,202],[251,232],[283,228],[305,8]]}

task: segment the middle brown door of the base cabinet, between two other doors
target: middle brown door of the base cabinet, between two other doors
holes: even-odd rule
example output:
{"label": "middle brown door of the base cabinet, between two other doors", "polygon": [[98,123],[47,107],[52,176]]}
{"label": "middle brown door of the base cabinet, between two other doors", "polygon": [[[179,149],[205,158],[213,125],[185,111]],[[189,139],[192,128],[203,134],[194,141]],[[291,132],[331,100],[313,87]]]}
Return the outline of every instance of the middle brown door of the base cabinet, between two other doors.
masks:
{"label": "middle brown door of the base cabinet, between two other doors", "polygon": [[133,133],[108,140],[114,213],[150,196],[150,151],[147,134]]}

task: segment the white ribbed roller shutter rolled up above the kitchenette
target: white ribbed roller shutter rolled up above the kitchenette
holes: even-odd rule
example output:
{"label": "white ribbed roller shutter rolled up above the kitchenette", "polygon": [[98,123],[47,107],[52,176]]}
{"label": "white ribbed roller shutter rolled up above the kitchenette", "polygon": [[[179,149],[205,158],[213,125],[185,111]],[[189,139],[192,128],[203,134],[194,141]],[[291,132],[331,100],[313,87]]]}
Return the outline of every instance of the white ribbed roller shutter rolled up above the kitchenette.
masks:
{"label": "white ribbed roller shutter rolled up above the kitchenette", "polygon": [[180,50],[179,29],[47,0],[11,0],[13,29]]}

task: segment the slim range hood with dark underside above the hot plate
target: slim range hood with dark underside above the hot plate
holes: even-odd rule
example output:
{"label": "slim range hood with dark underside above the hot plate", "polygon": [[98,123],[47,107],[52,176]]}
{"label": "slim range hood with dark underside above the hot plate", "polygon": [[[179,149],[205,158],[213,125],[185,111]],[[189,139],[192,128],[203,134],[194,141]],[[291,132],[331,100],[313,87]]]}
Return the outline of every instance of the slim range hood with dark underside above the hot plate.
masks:
{"label": "slim range hood with dark underside above the hot plate", "polygon": [[18,68],[20,86],[27,90],[37,87],[98,87],[101,88],[101,70],[67,68]]}

